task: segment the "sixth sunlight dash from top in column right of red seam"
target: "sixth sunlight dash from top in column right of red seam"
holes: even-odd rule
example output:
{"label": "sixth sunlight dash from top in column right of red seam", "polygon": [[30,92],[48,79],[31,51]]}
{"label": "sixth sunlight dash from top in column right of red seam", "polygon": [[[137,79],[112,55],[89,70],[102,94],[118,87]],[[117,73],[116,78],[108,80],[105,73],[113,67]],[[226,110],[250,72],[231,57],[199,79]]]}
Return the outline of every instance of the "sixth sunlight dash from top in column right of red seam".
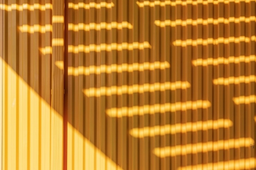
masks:
{"label": "sixth sunlight dash from top in column right of red seam", "polygon": [[176,112],[178,110],[189,110],[189,109],[207,109],[211,106],[210,101],[207,100],[197,100],[197,101],[186,101],[177,103],[166,103],[166,104],[154,104],[154,105],[144,105],[144,106],[133,106],[133,107],[121,107],[107,109],[107,115],[110,117],[133,117],[135,115],[145,115],[145,114],[156,114],[165,112]]}

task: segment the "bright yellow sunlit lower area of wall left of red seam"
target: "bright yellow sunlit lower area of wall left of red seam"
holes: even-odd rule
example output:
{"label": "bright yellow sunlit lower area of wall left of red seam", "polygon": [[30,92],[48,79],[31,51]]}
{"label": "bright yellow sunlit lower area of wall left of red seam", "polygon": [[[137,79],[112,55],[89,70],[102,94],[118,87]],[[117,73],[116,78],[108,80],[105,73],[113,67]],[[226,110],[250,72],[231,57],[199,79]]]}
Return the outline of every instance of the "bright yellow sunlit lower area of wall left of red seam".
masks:
{"label": "bright yellow sunlit lower area of wall left of red seam", "polygon": [[[38,169],[39,161],[41,161],[41,169],[50,169],[50,164],[53,163],[61,167],[63,158],[62,116],[51,108],[51,105],[44,101],[12,67],[0,61],[4,67],[5,80],[7,80],[4,84],[8,86],[8,90],[3,95],[3,97],[8,96],[8,100],[3,101],[3,112],[6,111],[3,116],[8,120],[4,121],[2,126],[4,134],[3,169],[16,169],[16,167]],[[19,117],[17,117],[17,112],[20,113]],[[19,148],[16,148],[17,143],[19,143]],[[41,143],[41,148],[39,143]]]}

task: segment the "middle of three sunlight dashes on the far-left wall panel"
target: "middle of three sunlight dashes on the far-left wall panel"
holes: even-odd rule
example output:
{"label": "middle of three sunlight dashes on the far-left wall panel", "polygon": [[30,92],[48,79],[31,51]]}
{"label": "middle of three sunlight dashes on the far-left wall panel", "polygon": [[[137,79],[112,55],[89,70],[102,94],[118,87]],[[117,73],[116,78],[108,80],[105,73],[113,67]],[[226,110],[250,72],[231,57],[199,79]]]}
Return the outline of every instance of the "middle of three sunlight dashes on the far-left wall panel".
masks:
{"label": "middle of three sunlight dashes on the far-left wall panel", "polygon": [[34,32],[40,32],[40,33],[46,33],[46,32],[52,32],[52,25],[46,24],[46,25],[22,25],[19,26],[18,29],[21,32],[27,32],[27,33],[34,33]]}

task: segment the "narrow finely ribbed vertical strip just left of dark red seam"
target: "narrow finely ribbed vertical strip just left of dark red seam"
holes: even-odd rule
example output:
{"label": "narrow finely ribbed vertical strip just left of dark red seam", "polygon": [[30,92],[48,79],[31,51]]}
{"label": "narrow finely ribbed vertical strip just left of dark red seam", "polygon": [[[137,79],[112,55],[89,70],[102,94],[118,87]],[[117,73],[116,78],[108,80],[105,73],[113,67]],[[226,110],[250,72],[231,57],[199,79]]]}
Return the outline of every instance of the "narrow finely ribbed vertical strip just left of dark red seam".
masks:
{"label": "narrow finely ribbed vertical strip just left of dark red seam", "polygon": [[52,1],[51,169],[63,169],[64,0]]}

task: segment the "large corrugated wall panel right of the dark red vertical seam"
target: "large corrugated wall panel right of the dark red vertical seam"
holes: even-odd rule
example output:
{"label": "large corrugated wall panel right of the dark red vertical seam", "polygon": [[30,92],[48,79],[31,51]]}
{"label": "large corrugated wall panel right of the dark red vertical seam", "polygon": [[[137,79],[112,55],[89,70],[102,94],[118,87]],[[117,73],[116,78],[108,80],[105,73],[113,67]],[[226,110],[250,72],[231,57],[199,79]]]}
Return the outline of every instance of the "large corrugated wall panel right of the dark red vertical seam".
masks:
{"label": "large corrugated wall panel right of the dark red vertical seam", "polygon": [[68,1],[68,169],[255,168],[254,1]]}

